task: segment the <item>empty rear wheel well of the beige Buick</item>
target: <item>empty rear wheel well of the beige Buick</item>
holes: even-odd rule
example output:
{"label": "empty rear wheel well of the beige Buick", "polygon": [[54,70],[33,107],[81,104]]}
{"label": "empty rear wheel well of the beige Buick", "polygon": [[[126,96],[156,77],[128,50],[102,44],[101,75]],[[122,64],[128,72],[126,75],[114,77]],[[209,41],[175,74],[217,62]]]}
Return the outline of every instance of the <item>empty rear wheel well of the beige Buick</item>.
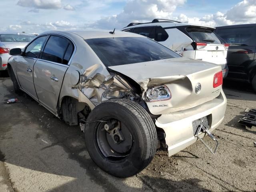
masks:
{"label": "empty rear wheel well of the beige Buick", "polygon": [[[88,110],[88,105],[84,102],[78,102],[76,98],[64,96],[60,104],[59,115],[68,125],[78,125],[79,118],[83,118],[78,113]],[[86,115],[86,112],[82,114]],[[84,116],[85,116],[84,115]]]}

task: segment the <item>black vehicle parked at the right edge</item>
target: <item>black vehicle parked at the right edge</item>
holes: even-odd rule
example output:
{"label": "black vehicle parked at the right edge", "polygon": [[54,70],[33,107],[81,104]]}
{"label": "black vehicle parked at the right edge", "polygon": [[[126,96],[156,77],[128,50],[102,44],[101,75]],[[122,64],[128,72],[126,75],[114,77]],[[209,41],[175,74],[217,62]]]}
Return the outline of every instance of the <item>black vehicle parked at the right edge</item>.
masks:
{"label": "black vehicle parked at the right edge", "polygon": [[215,33],[230,44],[228,78],[246,80],[256,91],[256,24],[216,27]]}

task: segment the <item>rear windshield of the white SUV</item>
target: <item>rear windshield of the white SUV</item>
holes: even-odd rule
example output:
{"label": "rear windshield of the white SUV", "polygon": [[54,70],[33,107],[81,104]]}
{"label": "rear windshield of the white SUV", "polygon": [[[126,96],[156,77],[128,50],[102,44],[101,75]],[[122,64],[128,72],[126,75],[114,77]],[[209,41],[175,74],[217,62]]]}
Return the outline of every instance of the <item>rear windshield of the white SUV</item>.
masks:
{"label": "rear windshield of the white SUV", "polygon": [[218,37],[209,29],[187,28],[188,34],[195,42],[204,42],[207,44],[221,44]]}

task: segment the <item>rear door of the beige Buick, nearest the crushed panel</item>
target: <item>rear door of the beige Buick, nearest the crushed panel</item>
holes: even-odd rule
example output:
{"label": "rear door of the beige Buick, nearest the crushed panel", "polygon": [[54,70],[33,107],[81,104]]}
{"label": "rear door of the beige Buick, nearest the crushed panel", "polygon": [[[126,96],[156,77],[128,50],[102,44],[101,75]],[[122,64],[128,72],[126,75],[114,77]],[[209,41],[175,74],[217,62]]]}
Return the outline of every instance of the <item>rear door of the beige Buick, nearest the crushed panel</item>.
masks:
{"label": "rear door of the beige Buick, nearest the crushed panel", "polygon": [[70,40],[51,35],[34,65],[34,85],[38,100],[54,114],[73,50],[74,45]]}

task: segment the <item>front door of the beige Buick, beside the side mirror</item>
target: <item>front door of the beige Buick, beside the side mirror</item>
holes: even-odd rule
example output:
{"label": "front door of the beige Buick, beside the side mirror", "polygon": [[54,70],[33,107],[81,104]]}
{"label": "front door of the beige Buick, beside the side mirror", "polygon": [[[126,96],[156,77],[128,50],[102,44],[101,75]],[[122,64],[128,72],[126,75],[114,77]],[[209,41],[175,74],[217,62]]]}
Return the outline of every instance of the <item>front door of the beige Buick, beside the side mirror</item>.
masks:
{"label": "front door of the beige Buick, beside the side mirror", "polygon": [[32,41],[22,56],[16,56],[16,74],[21,88],[34,99],[38,100],[33,82],[33,66],[40,55],[41,48],[47,38],[40,36]]}

